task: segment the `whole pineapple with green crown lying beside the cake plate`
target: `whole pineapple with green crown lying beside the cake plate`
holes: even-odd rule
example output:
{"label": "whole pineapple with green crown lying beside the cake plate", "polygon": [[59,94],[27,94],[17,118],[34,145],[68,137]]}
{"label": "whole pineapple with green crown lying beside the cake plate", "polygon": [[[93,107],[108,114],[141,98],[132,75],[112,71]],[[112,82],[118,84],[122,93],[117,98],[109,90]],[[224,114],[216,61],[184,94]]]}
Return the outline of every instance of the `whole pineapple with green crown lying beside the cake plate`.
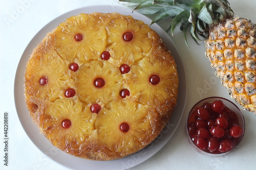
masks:
{"label": "whole pineapple with green crown lying beside the cake plate", "polygon": [[[186,41],[189,31],[205,40],[206,57],[216,76],[242,109],[256,113],[256,26],[233,17],[227,0],[120,0],[143,14],[155,14],[152,23],[172,17],[168,30],[179,25]],[[186,41],[187,43],[187,41]]]}

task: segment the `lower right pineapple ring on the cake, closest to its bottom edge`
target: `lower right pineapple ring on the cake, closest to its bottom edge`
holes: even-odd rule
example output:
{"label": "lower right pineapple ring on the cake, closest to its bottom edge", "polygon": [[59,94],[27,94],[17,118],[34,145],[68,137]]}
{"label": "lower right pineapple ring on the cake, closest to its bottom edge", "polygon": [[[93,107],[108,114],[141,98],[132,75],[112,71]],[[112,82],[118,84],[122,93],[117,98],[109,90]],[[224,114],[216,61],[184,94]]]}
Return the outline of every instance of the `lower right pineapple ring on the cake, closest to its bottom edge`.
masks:
{"label": "lower right pineapple ring on the cake, closest to its bottom edge", "polygon": [[151,109],[129,100],[111,102],[99,112],[95,122],[99,141],[117,153],[143,148],[151,142],[148,139],[155,130],[151,122],[158,121]]}

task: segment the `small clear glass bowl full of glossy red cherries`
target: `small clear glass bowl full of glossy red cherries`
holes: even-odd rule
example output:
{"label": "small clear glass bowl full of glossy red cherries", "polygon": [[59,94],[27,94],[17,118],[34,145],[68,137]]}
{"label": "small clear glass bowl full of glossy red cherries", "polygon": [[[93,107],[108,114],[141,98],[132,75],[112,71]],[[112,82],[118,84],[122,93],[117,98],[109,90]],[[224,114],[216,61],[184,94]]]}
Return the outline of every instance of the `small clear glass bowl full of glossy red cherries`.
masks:
{"label": "small clear glass bowl full of glossy red cherries", "polygon": [[199,101],[190,110],[186,129],[188,141],[201,154],[222,156],[240,143],[245,123],[240,109],[221,97]]}

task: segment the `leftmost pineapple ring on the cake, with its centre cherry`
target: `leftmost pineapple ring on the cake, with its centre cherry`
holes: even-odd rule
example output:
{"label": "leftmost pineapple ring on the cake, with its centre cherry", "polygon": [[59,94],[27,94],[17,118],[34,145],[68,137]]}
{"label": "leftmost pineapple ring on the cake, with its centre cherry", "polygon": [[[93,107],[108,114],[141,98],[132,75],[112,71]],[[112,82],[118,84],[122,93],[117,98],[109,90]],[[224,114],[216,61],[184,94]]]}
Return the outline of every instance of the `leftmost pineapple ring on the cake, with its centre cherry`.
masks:
{"label": "leftmost pineapple ring on the cake, with its centre cherry", "polygon": [[[41,56],[35,53],[35,58],[27,64],[25,76],[26,93],[33,98],[48,100],[65,98],[65,90],[74,87],[74,81],[70,79],[71,70],[68,63],[60,58],[54,50]],[[36,74],[34,74],[36,72]],[[40,84],[40,81],[47,81]]]}

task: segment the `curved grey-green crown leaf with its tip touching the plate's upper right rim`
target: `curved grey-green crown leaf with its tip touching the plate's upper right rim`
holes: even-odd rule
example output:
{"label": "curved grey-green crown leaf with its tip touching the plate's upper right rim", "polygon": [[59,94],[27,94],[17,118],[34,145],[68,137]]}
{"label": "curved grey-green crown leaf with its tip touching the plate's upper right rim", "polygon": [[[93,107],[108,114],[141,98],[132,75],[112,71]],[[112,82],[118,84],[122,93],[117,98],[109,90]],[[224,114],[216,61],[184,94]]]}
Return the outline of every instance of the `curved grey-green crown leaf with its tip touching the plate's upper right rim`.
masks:
{"label": "curved grey-green crown leaf with its tip touching the plate's upper right rim", "polygon": [[169,8],[167,10],[164,10],[162,13],[158,14],[157,16],[155,16],[155,18],[153,18],[152,23],[158,22],[159,20],[166,18],[166,17],[174,17],[179,15],[181,12],[183,11],[183,9],[173,6],[172,8]]}

